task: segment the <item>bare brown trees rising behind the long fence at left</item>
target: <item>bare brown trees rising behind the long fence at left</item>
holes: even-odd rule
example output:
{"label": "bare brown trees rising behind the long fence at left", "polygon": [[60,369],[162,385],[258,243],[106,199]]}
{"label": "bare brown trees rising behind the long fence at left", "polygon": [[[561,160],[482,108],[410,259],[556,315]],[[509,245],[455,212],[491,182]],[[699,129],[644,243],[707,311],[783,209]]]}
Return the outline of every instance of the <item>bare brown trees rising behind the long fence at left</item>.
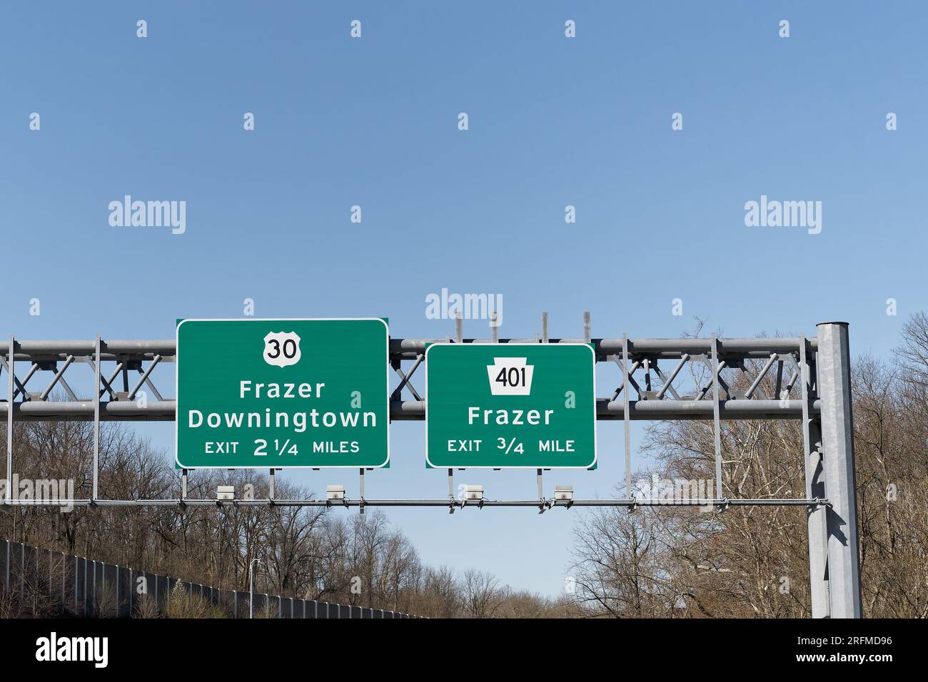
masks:
{"label": "bare brown trees rising behind the long fence at left", "polygon": [[[92,424],[16,424],[14,453],[19,480],[73,480],[76,498],[91,496]],[[101,425],[99,471],[101,498],[179,495],[180,472],[171,458],[118,422]],[[239,497],[268,496],[267,477],[253,470],[193,471],[187,495],[214,497],[221,484],[235,485]],[[277,481],[275,495],[316,496],[286,481]],[[68,513],[13,507],[0,508],[0,534],[223,589],[247,590],[251,560],[259,559],[257,591],[423,616],[543,617],[572,608],[500,585],[490,573],[427,566],[408,538],[370,508],[360,515],[319,507],[83,506]]]}

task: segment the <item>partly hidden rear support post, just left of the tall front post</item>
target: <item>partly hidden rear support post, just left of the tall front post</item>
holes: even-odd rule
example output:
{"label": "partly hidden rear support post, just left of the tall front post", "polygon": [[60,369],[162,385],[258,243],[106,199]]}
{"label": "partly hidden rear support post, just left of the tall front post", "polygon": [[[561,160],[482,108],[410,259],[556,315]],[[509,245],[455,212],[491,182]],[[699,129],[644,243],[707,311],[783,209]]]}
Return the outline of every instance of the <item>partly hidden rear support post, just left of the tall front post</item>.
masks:
{"label": "partly hidden rear support post, just left of the tall front post", "polygon": [[[812,395],[812,377],[815,363],[806,338],[799,346],[800,382],[803,402],[803,456],[806,463],[806,499],[825,498],[824,468],[821,459],[821,422],[810,417],[809,403]],[[783,396],[776,396],[778,399]],[[809,543],[809,591],[813,618],[828,618],[831,607],[828,598],[828,525],[827,508],[809,505],[806,508],[806,523]]]}

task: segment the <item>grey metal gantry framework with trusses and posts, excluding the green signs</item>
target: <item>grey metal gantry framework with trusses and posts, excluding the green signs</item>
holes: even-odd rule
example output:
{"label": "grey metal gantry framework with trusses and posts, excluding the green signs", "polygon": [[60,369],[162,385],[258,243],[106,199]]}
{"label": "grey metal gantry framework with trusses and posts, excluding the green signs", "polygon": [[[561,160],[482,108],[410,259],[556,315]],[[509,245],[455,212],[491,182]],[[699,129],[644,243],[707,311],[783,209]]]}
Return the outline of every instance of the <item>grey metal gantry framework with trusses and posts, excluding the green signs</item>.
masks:
{"label": "grey metal gantry framework with trusses and posts, excluding the green signs", "polygon": [[[702,419],[712,421],[715,434],[715,498],[683,504],[735,506],[803,506],[807,510],[809,568],[813,617],[859,617],[859,562],[854,451],[850,402],[850,361],[847,325],[822,323],[818,338],[771,339],[593,339],[585,315],[583,339],[549,339],[547,315],[535,339],[499,339],[491,323],[489,340],[464,339],[458,319],[454,339],[391,339],[390,364],[396,384],[390,401],[391,419],[425,418],[426,398],[414,379],[433,342],[590,343],[599,364],[617,370],[614,391],[597,398],[599,419],[621,420],[625,430],[625,499],[555,500],[542,491],[537,471],[538,498],[531,500],[458,500],[453,470],[448,470],[448,497],[439,499],[365,499],[360,470],[357,500],[286,500],[274,496],[274,471],[265,500],[215,500],[187,497],[187,471],[182,473],[180,496],[161,500],[102,499],[97,490],[100,422],[107,420],[174,420],[174,397],[162,394],[156,376],[174,363],[175,341],[18,341],[9,338],[0,354],[0,373],[6,372],[6,399],[0,418],[6,420],[6,480],[12,480],[13,425],[17,421],[87,420],[94,422],[93,495],[69,501],[74,505],[106,506],[345,506],[363,513],[370,507],[555,507],[666,504],[632,494],[631,420]],[[93,373],[89,398],[79,398],[65,375],[87,365]],[[21,368],[21,369],[20,369]],[[18,374],[19,372],[19,374]],[[36,377],[48,376],[38,386]],[[84,378],[89,378],[85,374]],[[162,377],[163,379],[163,377]],[[173,372],[169,381],[174,384]],[[600,382],[601,383],[601,382]],[[32,384],[32,385],[31,385]],[[76,384],[75,384],[76,385]],[[36,390],[30,391],[31,388]],[[795,419],[803,428],[806,496],[803,498],[728,499],[722,490],[720,422],[724,419]],[[58,500],[17,499],[6,486],[4,505],[60,506]],[[676,504],[676,502],[675,502]]]}

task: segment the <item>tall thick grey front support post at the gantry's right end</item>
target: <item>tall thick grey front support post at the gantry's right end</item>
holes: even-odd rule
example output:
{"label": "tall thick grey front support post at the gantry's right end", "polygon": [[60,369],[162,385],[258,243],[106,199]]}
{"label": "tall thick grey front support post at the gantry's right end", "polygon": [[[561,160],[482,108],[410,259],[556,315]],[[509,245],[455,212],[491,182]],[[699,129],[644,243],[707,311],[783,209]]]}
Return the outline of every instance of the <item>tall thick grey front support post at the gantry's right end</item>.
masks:
{"label": "tall thick grey front support post at the gantry's right end", "polygon": [[826,493],[830,503],[828,578],[832,618],[860,618],[860,560],[846,322],[818,324],[818,397]]}

